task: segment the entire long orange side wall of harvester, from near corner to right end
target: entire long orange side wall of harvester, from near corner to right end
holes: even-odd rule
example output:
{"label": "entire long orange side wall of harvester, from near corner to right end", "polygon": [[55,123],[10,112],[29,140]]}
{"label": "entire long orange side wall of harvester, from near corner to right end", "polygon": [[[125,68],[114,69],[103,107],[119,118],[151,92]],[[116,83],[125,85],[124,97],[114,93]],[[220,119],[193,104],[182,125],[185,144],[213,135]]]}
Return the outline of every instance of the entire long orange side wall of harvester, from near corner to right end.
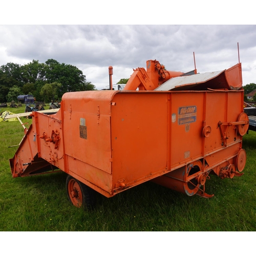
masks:
{"label": "entire long orange side wall of harvester, from near corner to right end", "polygon": [[[227,161],[236,164],[242,136],[237,125],[228,125],[224,144],[219,121],[238,121],[242,97],[242,91],[115,95],[111,114],[114,193],[200,159],[205,159],[202,173]],[[209,135],[205,127],[210,127]]]}

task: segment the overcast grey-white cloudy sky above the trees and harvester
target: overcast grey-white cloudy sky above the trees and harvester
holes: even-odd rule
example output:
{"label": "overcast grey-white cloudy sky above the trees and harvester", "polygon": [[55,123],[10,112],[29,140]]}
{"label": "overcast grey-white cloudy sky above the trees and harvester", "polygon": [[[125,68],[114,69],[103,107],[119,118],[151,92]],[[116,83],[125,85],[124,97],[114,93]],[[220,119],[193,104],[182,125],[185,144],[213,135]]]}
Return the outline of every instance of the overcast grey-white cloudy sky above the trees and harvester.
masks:
{"label": "overcast grey-white cloudy sky above the trees and harvester", "polygon": [[55,59],[76,66],[102,89],[157,59],[166,70],[220,71],[236,65],[256,83],[255,25],[0,25],[0,66]]}

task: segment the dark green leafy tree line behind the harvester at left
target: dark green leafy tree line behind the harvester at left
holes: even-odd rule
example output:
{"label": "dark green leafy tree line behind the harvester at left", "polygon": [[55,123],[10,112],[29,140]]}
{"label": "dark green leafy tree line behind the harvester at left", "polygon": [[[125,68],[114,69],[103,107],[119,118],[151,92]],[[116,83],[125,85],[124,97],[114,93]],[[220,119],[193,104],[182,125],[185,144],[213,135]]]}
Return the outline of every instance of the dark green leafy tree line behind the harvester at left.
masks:
{"label": "dark green leafy tree line behind the harvester at left", "polygon": [[32,94],[38,101],[57,101],[66,92],[96,90],[82,71],[72,65],[48,59],[25,65],[9,62],[0,67],[0,102],[16,100],[16,95]]}

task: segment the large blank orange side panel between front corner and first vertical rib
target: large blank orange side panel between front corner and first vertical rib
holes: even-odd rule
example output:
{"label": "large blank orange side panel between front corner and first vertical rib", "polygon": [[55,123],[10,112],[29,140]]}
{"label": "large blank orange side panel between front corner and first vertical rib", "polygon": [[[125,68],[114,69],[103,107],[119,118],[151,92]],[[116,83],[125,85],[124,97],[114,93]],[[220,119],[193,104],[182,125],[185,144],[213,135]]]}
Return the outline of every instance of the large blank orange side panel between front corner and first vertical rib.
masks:
{"label": "large blank orange side panel between front corner and first vertical rib", "polygon": [[167,94],[118,93],[111,113],[114,188],[166,170]]}

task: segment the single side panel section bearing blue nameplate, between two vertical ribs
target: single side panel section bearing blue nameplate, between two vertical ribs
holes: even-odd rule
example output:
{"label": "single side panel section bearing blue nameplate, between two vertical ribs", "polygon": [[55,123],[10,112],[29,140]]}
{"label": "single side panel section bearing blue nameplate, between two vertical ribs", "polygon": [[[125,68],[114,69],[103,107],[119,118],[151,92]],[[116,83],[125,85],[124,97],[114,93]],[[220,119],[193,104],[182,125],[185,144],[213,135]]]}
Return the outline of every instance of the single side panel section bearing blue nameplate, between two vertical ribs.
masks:
{"label": "single side panel section bearing blue nameplate, between two vertical ribs", "polygon": [[202,155],[204,93],[173,93],[171,103],[171,165],[172,169]]}

